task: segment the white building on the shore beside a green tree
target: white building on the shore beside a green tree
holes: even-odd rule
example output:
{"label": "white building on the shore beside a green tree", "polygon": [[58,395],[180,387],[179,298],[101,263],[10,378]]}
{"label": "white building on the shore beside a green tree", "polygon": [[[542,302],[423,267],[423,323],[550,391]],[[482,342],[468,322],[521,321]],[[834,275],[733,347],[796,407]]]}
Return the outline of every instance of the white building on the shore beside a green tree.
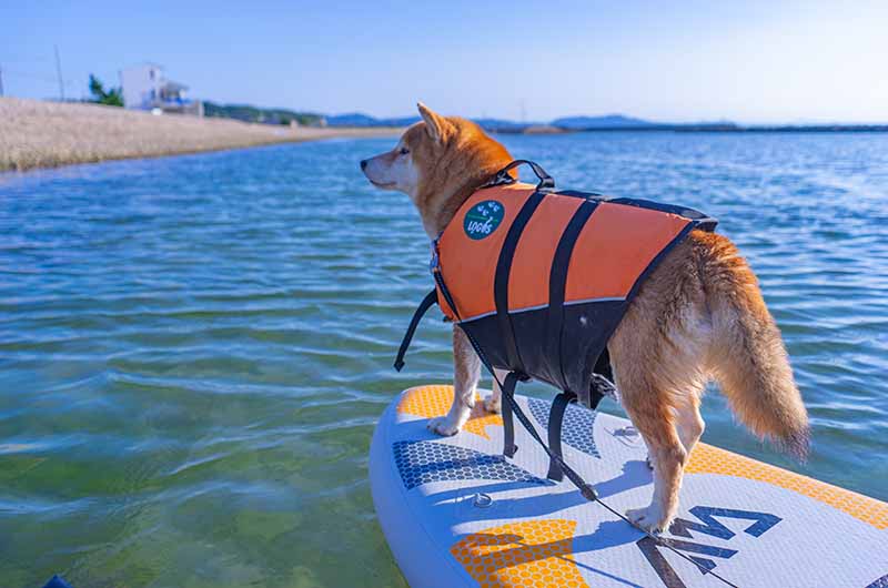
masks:
{"label": "white building on the shore beside a green tree", "polygon": [[123,105],[128,109],[162,112],[180,112],[203,116],[203,104],[189,100],[188,87],[168,80],[163,68],[155,63],[144,63],[120,72],[123,89]]}

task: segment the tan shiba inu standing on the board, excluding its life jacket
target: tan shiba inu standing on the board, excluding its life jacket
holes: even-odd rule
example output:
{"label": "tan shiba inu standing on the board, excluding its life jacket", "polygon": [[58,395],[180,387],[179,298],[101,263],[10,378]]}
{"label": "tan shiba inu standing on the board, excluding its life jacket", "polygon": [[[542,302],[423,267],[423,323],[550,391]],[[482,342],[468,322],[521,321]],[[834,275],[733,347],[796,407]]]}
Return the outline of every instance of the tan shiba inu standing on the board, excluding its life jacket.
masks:
{"label": "tan shiba inu standing on the board, excluding its life jacket", "polygon": [[[441,116],[418,104],[422,121],[395,148],[361,162],[377,187],[406,193],[435,239],[468,196],[512,162],[508,151],[475,123]],[[720,384],[731,410],[754,434],[793,455],[808,452],[808,415],[780,332],[758,282],[725,236],[692,231],[644,282],[610,337],[619,399],[642,434],[654,469],[650,505],[627,516],[653,533],[669,527],[678,508],[684,466],[704,430],[700,395]],[[454,402],[430,420],[440,435],[465,424],[481,362],[454,325]],[[498,412],[500,391],[485,407]]]}

